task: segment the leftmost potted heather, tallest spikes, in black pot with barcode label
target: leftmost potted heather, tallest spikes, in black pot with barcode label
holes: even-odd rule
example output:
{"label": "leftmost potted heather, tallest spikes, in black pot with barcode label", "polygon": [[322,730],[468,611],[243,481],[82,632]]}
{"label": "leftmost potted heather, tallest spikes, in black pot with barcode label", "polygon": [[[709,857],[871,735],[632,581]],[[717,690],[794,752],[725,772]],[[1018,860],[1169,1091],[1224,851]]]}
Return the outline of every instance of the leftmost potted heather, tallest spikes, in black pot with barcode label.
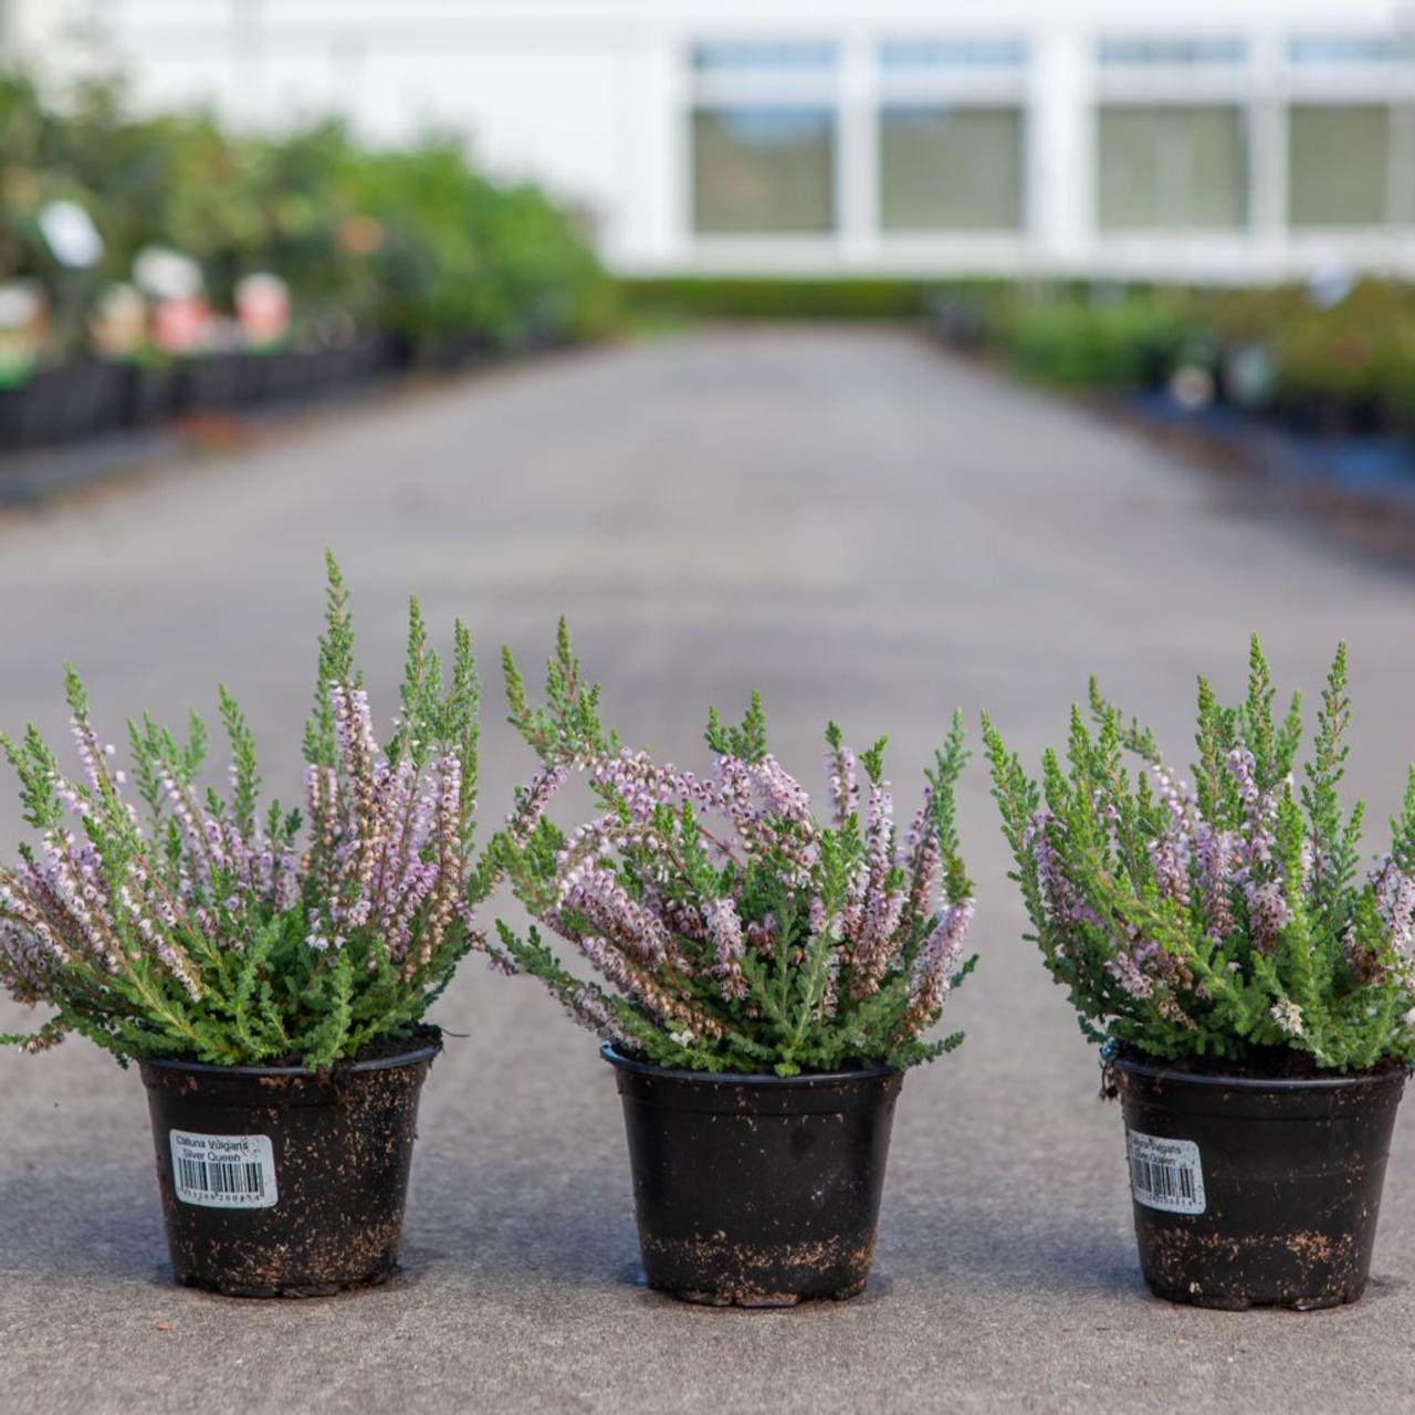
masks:
{"label": "leftmost potted heather, tallest spikes, in black pot with barcode label", "polygon": [[34,727],[0,739],[40,838],[0,869],[0,978],[54,1009],[4,1040],[40,1051],[78,1033],[137,1061],[173,1272],[229,1295],[392,1272],[441,1047],[422,1019],[475,941],[471,640],[458,624],[444,681],[413,601],[402,715],[379,749],[328,570],[303,819],[262,808],[252,734],[225,691],[225,794],[201,784],[195,716],[185,740],[132,723],[129,778],[72,669],[78,780]]}

